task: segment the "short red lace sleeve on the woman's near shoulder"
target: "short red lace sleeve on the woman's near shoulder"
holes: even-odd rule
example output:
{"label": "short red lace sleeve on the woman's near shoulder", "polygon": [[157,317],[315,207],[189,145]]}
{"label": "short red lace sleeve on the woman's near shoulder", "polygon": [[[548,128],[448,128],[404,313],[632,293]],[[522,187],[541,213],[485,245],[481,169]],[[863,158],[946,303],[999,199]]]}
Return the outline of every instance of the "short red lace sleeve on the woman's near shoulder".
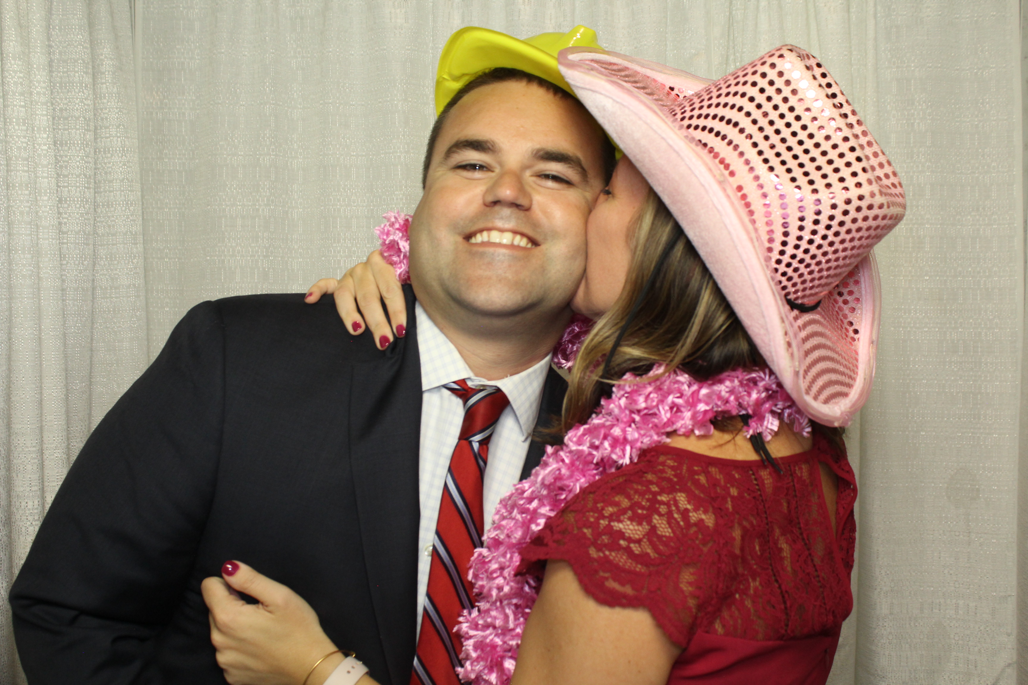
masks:
{"label": "short red lace sleeve on the woman's near shoulder", "polygon": [[683,488],[681,464],[640,458],[583,489],[521,557],[567,562],[594,600],[648,609],[684,648],[735,575],[731,544],[708,499],[692,494]]}

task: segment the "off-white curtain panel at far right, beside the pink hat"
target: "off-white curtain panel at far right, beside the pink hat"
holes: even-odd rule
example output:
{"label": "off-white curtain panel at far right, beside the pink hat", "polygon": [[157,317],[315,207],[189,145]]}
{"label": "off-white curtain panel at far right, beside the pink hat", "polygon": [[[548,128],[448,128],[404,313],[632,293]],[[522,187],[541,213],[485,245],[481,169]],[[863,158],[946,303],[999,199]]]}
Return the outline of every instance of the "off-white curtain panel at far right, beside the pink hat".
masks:
{"label": "off-white curtain panel at far right, beside the pink hat", "polygon": [[908,215],[878,251],[857,682],[1014,682],[1019,5],[882,3],[877,23],[875,136]]}

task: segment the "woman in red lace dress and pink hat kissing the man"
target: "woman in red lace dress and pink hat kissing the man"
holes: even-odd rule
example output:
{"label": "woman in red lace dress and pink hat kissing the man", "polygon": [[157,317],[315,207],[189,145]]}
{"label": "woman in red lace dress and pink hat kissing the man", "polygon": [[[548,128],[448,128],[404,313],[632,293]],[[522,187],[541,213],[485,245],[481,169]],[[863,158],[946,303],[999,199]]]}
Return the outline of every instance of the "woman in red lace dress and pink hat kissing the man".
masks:
{"label": "woman in red lace dress and pink hat kissing the man", "polygon": [[463,675],[823,685],[852,609],[838,426],[870,389],[870,253],[903,188],[799,48],[708,84],[601,50],[560,68],[626,157],[589,220],[563,447],[472,564]]}

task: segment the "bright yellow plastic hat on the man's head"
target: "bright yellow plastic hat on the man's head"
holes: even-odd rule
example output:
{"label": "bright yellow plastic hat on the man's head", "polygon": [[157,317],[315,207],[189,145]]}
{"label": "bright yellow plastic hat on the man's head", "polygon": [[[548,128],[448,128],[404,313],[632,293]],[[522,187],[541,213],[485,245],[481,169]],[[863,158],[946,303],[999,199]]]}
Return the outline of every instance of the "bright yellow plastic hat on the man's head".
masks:
{"label": "bright yellow plastic hat on the man's head", "polygon": [[557,52],[572,46],[602,49],[596,42],[596,32],[581,25],[567,33],[541,33],[524,40],[474,26],[456,31],[439,55],[436,116],[471,79],[497,67],[520,69],[574,96],[575,91],[557,70]]}

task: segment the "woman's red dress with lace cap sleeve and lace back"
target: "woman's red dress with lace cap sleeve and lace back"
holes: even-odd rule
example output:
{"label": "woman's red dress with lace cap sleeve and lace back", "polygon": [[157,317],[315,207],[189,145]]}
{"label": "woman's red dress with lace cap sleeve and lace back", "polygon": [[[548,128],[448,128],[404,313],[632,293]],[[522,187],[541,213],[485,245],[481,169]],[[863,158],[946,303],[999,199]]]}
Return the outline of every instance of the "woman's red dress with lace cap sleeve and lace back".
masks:
{"label": "woman's red dress with lace cap sleeve and lace back", "polygon": [[[523,563],[566,561],[600,604],[649,609],[683,647],[668,683],[824,685],[853,606],[855,481],[819,436],[777,462],[647,450],[576,495]],[[818,463],[839,477],[836,530]]]}

